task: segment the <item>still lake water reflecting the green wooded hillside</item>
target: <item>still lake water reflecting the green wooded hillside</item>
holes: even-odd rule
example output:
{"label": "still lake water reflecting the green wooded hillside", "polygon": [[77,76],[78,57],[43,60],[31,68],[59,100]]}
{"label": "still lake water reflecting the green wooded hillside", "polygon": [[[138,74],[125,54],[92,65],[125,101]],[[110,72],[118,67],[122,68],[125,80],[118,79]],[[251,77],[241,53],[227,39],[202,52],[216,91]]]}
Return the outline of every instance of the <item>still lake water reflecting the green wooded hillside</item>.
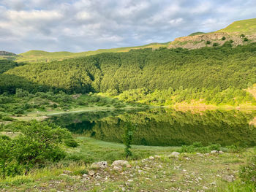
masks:
{"label": "still lake water reflecting the green wooded hillside", "polygon": [[181,112],[158,108],[143,111],[86,112],[54,116],[51,120],[75,134],[122,142],[133,127],[133,144],[156,146],[256,145],[256,111],[206,110]]}

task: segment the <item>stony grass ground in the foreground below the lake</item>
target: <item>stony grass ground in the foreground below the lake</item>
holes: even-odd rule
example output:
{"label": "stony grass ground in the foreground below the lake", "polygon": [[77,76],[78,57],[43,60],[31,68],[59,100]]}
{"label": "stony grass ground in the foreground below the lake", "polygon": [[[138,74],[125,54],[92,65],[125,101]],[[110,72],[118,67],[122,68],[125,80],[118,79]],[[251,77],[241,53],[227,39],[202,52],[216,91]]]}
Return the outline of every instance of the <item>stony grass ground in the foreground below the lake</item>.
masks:
{"label": "stony grass ground in the foreground below the lake", "polygon": [[[69,157],[59,164],[35,169],[26,176],[0,180],[0,191],[252,191],[240,186],[238,169],[246,159],[254,155],[252,148],[241,153],[196,154],[181,153],[178,158],[168,157],[180,147],[132,146],[133,156],[128,159],[131,168],[114,171],[113,167],[94,169],[94,177],[88,173],[85,162],[124,159],[124,146],[87,137],[77,137],[79,147],[69,149]],[[84,157],[83,162],[75,156]],[[149,156],[159,155],[150,160]],[[71,159],[73,158],[73,161]],[[72,163],[71,163],[72,162]],[[72,173],[61,176],[65,170]],[[236,182],[229,183],[226,177]]]}

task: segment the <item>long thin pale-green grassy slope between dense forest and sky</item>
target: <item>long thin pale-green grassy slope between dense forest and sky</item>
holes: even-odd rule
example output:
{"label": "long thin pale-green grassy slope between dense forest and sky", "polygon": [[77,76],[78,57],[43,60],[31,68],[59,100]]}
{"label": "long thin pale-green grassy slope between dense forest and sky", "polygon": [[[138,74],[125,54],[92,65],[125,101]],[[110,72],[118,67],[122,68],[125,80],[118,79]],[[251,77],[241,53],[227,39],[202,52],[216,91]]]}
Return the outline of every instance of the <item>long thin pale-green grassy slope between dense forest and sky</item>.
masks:
{"label": "long thin pale-green grassy slope between dense forest and sky", "polygon": [[120,47],[120,48],[113,48],[113,49],[100,49],[94,51],[86,51],[81,53],[71,53],[67,51],[62,52],[46,52],[42,50],[30,50],[26,53],[21,53],[20,56],[17,58],[16,61],[18,62],[45,62],[45,61],[54,61],[54,60],[63,60],[67,58],[78,58],[82,56],[89,56],[89,55],[96,55],[99,53],[118,53],[118,52],[128,52],[132,49],[140,49],[140,48],[159,48],[159,47],[166,47],[167,43],[151,43],[148,45],[137,46],[137,47]]}

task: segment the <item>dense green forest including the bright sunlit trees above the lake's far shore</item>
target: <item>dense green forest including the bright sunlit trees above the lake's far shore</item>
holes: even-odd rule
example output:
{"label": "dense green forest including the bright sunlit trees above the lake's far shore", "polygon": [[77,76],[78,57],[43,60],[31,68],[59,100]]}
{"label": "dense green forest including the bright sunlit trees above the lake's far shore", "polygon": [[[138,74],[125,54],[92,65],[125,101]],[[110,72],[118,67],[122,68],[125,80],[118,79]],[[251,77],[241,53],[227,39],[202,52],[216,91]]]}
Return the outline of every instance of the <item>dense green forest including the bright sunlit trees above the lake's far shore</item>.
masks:
{"label": "dense green forest including the bright sunlit trees above the lake's far shore", "polygon": [[16,88],[29,93],[102,92],[138,101],[137,92],[142,90],[150,93],[142,101],[146,104],[191,99],[205,99],[208,104],[254,104],[244,89],[256,82],[255,52],[256,43],[232,47],[227,41],[223,46],[197,50],[160,47],[50,63],[1,61],[0,93],[15,94]]}

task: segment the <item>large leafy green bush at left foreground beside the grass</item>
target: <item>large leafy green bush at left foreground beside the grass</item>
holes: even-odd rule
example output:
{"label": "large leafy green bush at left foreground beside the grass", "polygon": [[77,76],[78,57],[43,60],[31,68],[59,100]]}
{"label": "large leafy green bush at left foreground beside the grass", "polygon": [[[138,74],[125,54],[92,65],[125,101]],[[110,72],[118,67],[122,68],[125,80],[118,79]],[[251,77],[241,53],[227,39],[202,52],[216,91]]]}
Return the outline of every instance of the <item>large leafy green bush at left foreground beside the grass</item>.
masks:
{"label": "large leafy green bush at left foreground beside the grass", "polygon": [[22,134],[14,139],[0,138],[0,177],[24,174],[65,157],[59,143],[71,138],[66,129],[36,120],[15,126]]}

